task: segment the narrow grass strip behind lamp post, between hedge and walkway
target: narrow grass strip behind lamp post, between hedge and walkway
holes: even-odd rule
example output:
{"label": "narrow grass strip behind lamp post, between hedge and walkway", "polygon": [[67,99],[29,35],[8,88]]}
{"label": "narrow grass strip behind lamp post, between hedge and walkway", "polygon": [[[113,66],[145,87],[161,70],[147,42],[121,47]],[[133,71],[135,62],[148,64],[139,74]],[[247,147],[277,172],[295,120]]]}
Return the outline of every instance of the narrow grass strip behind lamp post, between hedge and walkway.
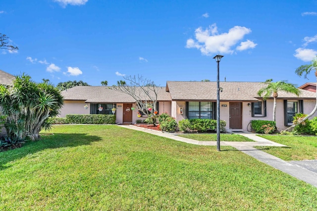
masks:
{"label": "narrow grass strip behind lamp post, between hedge and walkway", "polygon": [[[216,141],[216,134],[182,134],[180,137],[194,139],[198,141]],[[220,134],[220,141],[240,141],[240,142],[252,142],[253,140],[238,135],[238,134]]]}

